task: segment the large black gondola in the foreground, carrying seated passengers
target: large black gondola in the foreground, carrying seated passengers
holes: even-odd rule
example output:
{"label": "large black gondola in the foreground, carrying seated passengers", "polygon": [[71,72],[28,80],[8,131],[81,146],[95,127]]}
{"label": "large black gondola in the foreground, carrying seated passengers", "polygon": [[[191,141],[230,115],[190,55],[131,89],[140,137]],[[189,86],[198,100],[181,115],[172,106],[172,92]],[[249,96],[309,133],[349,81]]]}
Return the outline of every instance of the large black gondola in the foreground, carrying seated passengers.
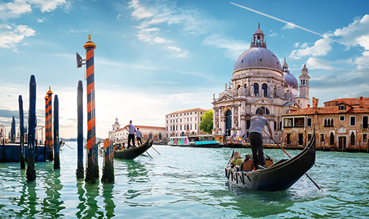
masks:
{"label": "large black gondola in the foreground, carrying seated passengers", "polygon": [[[308,145],[292,159],[283,159],[268,168],[245,170],[252,165],[244,161],[240,170],[226,165],[226,177],[230,186],[237,185],[254,190],[285,190],[299,180],[315,163],[315,133]],[[252,161],[252,160],[249,160]],[[268,166],[268,165],[267,165]]]}

